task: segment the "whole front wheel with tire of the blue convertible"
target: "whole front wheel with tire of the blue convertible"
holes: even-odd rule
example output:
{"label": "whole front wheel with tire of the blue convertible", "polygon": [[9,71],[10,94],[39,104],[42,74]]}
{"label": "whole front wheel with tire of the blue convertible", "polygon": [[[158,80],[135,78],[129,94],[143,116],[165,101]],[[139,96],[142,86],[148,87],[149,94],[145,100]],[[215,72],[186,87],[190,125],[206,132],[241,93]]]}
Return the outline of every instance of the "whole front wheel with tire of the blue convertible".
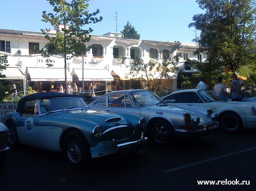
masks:
{"label": "whole front wheel with tire of the blue convertible", "polygon": [[85,137],[81,133],[71,131],[63,140],[63,153],[67,163],[74,168],[86,166],[91,159],[91,152]]}

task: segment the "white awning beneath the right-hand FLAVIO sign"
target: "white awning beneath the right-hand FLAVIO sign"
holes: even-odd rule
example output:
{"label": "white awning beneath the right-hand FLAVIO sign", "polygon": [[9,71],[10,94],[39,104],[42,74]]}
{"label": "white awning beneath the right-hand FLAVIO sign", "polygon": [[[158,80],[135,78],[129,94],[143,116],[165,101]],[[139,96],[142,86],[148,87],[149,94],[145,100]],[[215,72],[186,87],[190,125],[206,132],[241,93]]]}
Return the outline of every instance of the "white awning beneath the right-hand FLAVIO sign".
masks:
{"label": "white awning beneath the right-hand FLAVIO sign", "polygon": [[[84,70],[84,71],[83,71]],[[113,81],[114,77],[111,76],[107,69],[73,69],[71,75],[79,81]]]}

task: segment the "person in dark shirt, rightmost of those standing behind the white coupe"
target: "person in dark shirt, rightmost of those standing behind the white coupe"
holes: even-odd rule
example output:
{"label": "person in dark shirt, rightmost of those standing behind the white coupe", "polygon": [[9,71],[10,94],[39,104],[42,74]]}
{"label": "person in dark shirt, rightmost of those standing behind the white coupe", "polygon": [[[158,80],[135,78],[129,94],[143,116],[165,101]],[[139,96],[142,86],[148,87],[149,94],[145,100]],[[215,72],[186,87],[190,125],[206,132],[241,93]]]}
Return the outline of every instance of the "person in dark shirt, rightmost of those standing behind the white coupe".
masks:
{"label": "person in dark shirt, rightmost of those standing behind the white coupe", "polygon": [[230,85],[230,92],[232,102],[242,102],[243,94],[242,94],[242,86],[244,89],[248,88],[248,84],[243,82],[243,80],[239,80],[236,74],[233,74],[233,80]]}

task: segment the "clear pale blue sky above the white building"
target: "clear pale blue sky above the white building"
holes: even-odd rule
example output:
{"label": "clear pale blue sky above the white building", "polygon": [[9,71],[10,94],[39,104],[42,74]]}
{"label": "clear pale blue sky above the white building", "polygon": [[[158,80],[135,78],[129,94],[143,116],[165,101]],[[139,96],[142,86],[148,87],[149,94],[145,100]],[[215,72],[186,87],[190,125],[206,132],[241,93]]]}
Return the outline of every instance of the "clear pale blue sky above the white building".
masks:
{"label": "clear pale blue sky above the white building", "polygon": [[[0,29],[31,32],[54,29],[41,21],[43,11],[54,13],[47,0],[0,0],[0,5]],[[204,13],[195,0],[90,0],[88,9],[90,12],[99,9],[98,16],[103,17],[101,22],[90,25],[94,30],[91,34],[116,32],[116,28],[121,32],[129,21],[141,39],[187,43],[195,38],[195,28],[189,28],[189,23],[195,14]]]}

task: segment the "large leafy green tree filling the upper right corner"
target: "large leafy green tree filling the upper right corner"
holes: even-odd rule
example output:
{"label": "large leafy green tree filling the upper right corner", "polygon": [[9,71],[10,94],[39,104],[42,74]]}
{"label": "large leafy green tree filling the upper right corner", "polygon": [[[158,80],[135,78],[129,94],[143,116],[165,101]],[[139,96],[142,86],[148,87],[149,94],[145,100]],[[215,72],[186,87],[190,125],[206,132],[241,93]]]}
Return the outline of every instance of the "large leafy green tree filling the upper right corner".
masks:
{"label": "large leafy green tree filling the upper right corner", "polygon": [[196,2],[206,12],[194,15],[194,22],[189,27],[201,31],[200,36],[194,39],[199,45],[195,54],[208,53],[208,70],[236,72],[243,65],[255,65],[255,0]]}

